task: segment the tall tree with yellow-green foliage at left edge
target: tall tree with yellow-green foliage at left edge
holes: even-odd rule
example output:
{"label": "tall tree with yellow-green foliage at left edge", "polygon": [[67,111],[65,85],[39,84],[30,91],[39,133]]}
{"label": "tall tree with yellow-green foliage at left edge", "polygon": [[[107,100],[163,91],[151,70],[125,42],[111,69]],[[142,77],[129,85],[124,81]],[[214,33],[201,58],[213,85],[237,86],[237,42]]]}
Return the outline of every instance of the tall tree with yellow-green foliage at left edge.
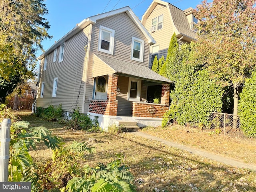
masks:
{"label": "tall tree with yellow-green foliage at left edge", "polygon": [[[51,38],[44,0],[2,0],[0,2],[0,78],[12,92],[22,78],[30,78],[36,65],[36,50]],[[2,87],[1,87],[2,89]],[[0,90],[2,92],[3,90]],[[4,97],[1,94],[0,97]]]}

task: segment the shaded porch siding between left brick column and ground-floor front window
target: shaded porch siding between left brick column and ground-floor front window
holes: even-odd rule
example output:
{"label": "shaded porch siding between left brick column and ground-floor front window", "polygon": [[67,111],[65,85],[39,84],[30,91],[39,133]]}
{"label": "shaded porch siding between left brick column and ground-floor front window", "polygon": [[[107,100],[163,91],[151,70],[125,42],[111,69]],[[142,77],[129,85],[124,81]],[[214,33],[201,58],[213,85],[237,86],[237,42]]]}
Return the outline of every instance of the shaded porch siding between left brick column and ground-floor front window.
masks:
{"label": "shaded porch siding between left brick column and ground-floor front window", "polygon": [[120,92],[116,94],[118,100],[117,116],[132,116],[132,102],[127,100],[129,78],[118,76],[117,87]]}

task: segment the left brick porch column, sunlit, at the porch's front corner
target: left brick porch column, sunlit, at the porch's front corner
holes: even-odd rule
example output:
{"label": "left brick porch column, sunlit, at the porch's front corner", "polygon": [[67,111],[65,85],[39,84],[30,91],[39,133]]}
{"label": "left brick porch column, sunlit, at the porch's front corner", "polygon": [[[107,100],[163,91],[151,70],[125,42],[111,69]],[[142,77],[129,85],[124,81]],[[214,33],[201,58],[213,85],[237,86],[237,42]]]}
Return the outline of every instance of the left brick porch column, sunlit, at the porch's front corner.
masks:
{"label": "left brick porch column, sunlit, at the porch's front corner", "polygon": [[108,75],[108,104],[106,107],[105,115],[116,116],[117,114],[117,101],[116,101],[116,88],[117,88],[118,75]]}

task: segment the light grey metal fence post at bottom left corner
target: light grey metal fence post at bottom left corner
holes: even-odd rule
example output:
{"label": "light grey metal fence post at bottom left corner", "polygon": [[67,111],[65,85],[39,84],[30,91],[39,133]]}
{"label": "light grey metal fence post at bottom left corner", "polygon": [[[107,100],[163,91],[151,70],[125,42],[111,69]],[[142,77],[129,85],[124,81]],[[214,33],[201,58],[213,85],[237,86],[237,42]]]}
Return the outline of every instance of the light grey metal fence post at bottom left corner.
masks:
{"label": "light grey metal fence post at bottom left corner", "polygon": [[0,182],[8,181],[8,165],[10,152],[10,127],[11,120],[4,119],[1,124],[1,147],[0,147]]}

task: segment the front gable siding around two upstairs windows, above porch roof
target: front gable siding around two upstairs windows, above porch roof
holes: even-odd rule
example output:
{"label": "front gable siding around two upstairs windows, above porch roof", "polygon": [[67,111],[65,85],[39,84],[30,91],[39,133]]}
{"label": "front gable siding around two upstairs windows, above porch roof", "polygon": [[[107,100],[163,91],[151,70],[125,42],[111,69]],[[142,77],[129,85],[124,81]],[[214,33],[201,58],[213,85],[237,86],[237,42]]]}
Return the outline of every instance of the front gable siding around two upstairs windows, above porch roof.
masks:
{"label": "front gable siding around two upstairs windows, above porch roof", "polygon": [[[115,30],[114,36],[114,54],[106,54],[98,51],[98,36],[99,26],[105,26]],[[143,62],[131,60],[132,37],[144,40],[144,57]],[[142,34],[140,29],[132,22],[126,13],[117,14],[108,18],[103,18],[97,21],[92,27],[92,44],[91,49],[93,53],[103,54],[105,56],[120,59],[123,61],[148,66],[149,44],[146,37]]]}

